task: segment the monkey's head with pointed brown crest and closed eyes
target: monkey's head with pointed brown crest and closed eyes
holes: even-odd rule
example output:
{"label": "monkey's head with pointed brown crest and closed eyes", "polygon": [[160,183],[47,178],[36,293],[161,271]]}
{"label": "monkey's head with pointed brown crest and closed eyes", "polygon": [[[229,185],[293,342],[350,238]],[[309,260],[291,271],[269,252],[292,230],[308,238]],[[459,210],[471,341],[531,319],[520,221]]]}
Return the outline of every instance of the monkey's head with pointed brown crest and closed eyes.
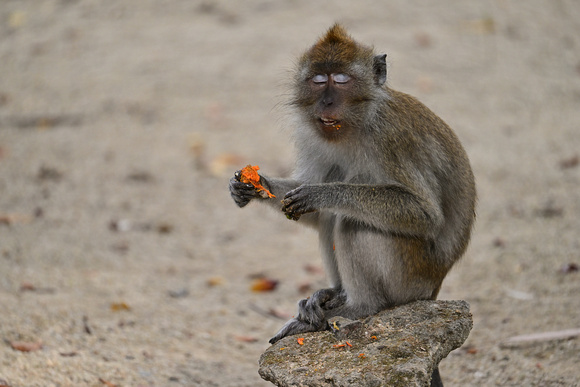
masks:
{"label": "monkey's head with pointed brown crest and closed eyes", "polygon": [[327,140],[348,136],[386,96],[386,55],[332,26],[299,60],[293,104]]}

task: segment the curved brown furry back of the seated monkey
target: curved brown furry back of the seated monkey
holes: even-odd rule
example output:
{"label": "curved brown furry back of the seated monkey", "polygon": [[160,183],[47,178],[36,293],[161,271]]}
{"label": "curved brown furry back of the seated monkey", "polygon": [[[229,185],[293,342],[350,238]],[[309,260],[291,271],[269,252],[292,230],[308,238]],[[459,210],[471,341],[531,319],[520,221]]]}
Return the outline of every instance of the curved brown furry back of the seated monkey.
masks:
{"label": "curved brown furry back of the seated monkey", "polygon": [[[435,255],[450,268],[465,252],[475,220],[475,179],[467,153],[455,132],[427,106],[411,95],[388,92],[385,134],[393,139],[383,149],[391,159],[386,164],[392,165],[393,157],[412,164],[403,170],[416,171],[441,206],[444,224],[435,241]],[[411,186],[417,177],[398,176]]]}

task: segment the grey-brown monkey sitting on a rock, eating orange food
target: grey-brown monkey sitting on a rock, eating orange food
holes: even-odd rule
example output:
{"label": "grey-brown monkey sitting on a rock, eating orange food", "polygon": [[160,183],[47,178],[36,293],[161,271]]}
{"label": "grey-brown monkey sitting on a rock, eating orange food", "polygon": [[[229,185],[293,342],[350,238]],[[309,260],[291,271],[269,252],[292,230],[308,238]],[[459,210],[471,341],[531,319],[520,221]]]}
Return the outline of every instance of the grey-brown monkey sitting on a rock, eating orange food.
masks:
{"label": "grey-brown monkey sitting on a rock, eating orange food", "polygon": [[[260,175],[276,198],[240,171],[230,179],[239,207],[265,202],[319,233],[330,287],[299,301],[272,344],[328,329],[334,316],[434,300],[467,248],[476,205],[467,154],[441,118],[386,80],[386,54],[333,25],[297,63],[292,176]],[[432,385],[442,385],[438,369]]]}

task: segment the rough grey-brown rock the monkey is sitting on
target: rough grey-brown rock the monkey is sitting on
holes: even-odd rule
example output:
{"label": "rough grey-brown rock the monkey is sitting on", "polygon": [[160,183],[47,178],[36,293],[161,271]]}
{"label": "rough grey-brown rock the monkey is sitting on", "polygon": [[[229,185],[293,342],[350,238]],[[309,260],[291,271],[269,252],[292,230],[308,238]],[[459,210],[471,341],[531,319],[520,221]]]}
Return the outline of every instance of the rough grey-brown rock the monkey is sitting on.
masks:
{"label": "rough grey-brown rock the monkey is sitting on", "polygon": [[428,386],[473,322],[465,301],[417,301],[362,322],[330,324],[338,329],[286,337],[268,348],[260,376],[277,386]]}

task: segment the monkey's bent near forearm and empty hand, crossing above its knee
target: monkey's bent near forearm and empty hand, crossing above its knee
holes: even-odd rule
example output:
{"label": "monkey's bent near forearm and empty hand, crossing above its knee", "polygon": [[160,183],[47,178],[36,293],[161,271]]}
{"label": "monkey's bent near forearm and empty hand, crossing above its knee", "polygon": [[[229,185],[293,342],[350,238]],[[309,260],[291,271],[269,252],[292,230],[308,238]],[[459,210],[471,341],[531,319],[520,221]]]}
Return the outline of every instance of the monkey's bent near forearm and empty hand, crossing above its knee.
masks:
{"label": "monkey's bent near forearm and empty hand, crossing above its knee", "polygon": [[386,232],[433,237],[443,224],[443,212],[434,196],[420,195],[398,183],[304,184],[286,194],[282,211],[296,218],[328,210]]}

